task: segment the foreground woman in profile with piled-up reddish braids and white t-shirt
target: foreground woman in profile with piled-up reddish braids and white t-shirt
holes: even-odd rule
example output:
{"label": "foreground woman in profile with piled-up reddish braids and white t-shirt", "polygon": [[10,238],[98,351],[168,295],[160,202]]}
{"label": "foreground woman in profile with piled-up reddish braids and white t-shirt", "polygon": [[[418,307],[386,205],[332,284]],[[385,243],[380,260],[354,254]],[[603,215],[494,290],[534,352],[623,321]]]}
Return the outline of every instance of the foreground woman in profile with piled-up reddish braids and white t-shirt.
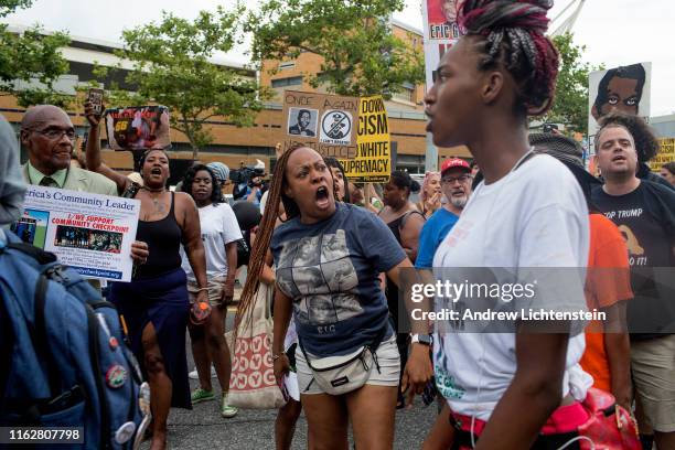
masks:
{"label": "foreground woman in profile with piled-up reddish braids and white t-shirt", "polygon": [[[569,274],[586,266],[588,210],[571,173],[554,158],[533,157],[527,142],[527,117],[546,113],[554,100],[558,53],[544,35],[551,4],[465,0],[459,17],[467,35],[443,55],[425,101],[433,142],[467,146],[484,175],[436,253],[436,276],[453,281],[461,274],[459,282],[472,283],[479,269],[462,268],[483,268],[493,279],[501,277],[495,268],[508,268],[521,281],[528,272],[546,275],[537,268],[555,268],[544,281],[548,287],[559,278],[564,287],[540,289],[538,279],[526,304],[567,311],[585,308],[582,277]],[[523,304],[517,297],[508,301],[502,291],[490,308]],[[463,311],[479,310],[475,298],[462,302]],[[454,426],[446,428],[453,430],[452,448],[579,448],[586,438],[577,429],[588,418],[579,401],[589,384],[578,364],[581,326],[523,320],[460,332],[474,324],[448,323],[440,331],[437,323],[435,334],[436,381]],[[548,329],[554,331],[542,332]]]}

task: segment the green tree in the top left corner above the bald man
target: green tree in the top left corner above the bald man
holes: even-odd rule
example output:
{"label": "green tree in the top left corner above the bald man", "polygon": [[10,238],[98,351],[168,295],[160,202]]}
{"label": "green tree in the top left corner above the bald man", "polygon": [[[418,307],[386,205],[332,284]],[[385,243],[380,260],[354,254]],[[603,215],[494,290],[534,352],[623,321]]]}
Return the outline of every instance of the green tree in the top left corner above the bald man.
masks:
{"label": "green tree in the top left corner above the bald man", "polygon": [[[29,8],[32,2],[0,0],[0,18]],[[24,107],[45,103],[66,106],[69,97],[56,92],[53,85],[68,73],[68,63],[58,49],[69,42],[66,34],[46,35],[39,26],[13,33],[7,24],[0,24],[0,96],[13,95]]]}

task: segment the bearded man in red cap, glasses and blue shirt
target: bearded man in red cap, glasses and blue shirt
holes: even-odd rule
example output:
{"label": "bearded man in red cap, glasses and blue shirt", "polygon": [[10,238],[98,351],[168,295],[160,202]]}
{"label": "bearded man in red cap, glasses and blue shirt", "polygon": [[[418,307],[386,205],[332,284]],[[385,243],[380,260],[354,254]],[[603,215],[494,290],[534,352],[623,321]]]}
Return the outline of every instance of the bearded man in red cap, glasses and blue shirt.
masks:
{"label": "bearded man in red cap, glasses and blue shirt", "polygon": [[436,249],[457,223],[469,201],[472,179],[471,168],[462,159],[449,158],[441,164],[441,191],[447,201],[422,227],[415,260],[416,268],[430,269],[433,266]]}

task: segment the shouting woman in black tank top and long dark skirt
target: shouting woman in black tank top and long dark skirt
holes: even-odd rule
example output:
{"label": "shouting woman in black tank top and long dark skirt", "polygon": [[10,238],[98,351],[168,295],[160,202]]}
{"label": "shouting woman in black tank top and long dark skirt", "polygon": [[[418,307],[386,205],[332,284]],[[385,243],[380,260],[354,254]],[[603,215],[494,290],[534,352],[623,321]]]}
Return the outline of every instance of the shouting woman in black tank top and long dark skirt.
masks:
{"label": "shouting woman in black tank top and long dark skirt", "polygon": [[[118,174],[119,175],[119,174]],[[185,356],[185,330],[190,314],[180,246],[201,290],[195,306],[205,303],[206,261],[200,217],[191,196],[169,192],[169,157],[149,150],[141,160],[143,188],[129,196],[141,201],[137,239],[148,246],[144,264],[135,267],[131,282],[114,283],[113,301],[124,317],[136,357],[151,387],[153,405],[152,449],[165,448],[167,418],[171,406],[192,408]]]}

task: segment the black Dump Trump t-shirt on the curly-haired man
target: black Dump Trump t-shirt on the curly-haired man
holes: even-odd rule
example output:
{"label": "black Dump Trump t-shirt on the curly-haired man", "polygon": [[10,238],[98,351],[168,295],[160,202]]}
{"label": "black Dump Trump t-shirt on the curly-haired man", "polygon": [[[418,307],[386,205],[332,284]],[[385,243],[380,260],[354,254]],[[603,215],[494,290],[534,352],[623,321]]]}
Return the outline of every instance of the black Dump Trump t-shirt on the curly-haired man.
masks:
{"label": "black Dump Trump t-shirt on the curly-haired man", "polygon": [[610,195],[602,186],[591,193],[593,204],[619,227],[629,250],[635,294],[628,304],[631,339],[675,332],[675,192],[642,180],[624,195]]}

